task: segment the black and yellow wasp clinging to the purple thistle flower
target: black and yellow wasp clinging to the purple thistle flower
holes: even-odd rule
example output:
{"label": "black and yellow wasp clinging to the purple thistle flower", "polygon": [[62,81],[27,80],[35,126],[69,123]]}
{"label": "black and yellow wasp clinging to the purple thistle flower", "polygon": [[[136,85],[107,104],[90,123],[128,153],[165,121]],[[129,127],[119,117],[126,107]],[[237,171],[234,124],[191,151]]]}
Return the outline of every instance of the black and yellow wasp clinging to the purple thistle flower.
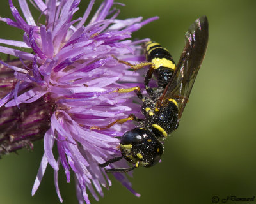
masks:
{"label": "black and yellow wasp clinging to the purple thistle flower", "polygon": [[[138,166],[150,167],[159,162],[164,151],[161,140],[177,129],[204,59],[208,42],[207,17],[198,18],[189,27],[185,40],[186,45],[177,66],[168,50],[152,41],[145,44],[147,62],[132,65],[117,59],[120,63],[127,64],[135,70],[149,66],[144,81],[148,96],[143,96],[139,87],[116,91],[120,93],[135,91],[143,101],[141,111],[145,119],[130,115],[127,119],[116,120],[105,127],[109,128],[116,122],[123,123],[127,120],[138,122],[138,128],[127,131],[120,139],[122,156],[99,164],[100,167],[111,166],[112,163],[125,158],[135,165],[131,168],[110,168],[106,169],[106,172],[128,172]],[[156,77],[157,82],[157,88],[154,89],[149,85],[152,75]]]}

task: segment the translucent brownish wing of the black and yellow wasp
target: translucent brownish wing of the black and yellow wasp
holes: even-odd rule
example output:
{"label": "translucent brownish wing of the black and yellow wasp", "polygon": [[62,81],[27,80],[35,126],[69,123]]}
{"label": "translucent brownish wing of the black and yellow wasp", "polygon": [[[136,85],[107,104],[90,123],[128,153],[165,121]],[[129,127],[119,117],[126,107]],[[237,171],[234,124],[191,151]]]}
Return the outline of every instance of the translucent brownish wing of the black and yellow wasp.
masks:
{"label": "translucent brownish wing of the black and yellow wasp", "polygon": [[158,104],[172,98],[178,104],[178,124],[188,102],[196,75],[204,59],[208,42],[207,17],[198,18],[185,34],[186,45],[177,64],[177,69],[159,98]]}

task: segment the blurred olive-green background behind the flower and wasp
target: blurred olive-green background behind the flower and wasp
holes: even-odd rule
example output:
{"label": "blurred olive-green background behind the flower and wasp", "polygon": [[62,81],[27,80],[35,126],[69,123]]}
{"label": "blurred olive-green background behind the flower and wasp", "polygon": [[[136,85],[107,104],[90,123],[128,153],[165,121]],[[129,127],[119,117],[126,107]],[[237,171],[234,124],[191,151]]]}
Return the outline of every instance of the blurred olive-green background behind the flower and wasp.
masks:
{"label": "blurred olive-green background behind the flower and wasp", "polygon": [[[82,12],[88,1],[81,1]],[[161,43],[176,62],[184,47],[186,30],[201,15],[207,15],[209,20],[209,46],[179,129],[164,144],[163,162],[134,171],[131,181],[141,198],[113,179],[113,186],[109,191],[104,189],[100,203],[200,204],[212,203],[215,195],[220,199],[256,196],[256,1],[120,2],[126,6],[121,8],[119,18],[160,17],[134,33],[134,38],[152,38]],[[0,15],[10,17],[7,0],[1,1]],[[6,27],[3,22],[0,26],[0,38],[22,40],[17,29]],[[35,143],[33,153],[17,153],[0,161],[0,203],[59,203],[50,167],[31,197],[43,154],[42,142]],[[59,184],[64,203],[77,203],[74,180],[67,184],[61,173]],[[92,197],[90,200],[98,203]]]}

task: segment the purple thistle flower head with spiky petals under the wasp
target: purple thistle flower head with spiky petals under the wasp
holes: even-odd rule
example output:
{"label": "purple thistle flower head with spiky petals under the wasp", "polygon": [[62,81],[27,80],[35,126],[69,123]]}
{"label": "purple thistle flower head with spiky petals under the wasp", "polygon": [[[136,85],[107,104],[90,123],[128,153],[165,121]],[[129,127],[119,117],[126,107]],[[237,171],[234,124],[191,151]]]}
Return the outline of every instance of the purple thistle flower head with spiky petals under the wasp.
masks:
{"label": "purple thistle flower head with spiky petals under the wasp", "polygon": [[[141,85],[143,77],[112,57],[143,61],[140,43],[131,41],[131,34],[157,17],[142,21],[141,17],[118,20],[120,12],[113,0],[105,0],[91,19],[88,15],[94,0],[88,4],[83,17],[72,19],[79,0],[33,0],[31,3],[45,16],[45,24],[37,24],[26,0],[19,0],[24,18],[9,0],[15,20],[0,18],[6,24],[24,31],[24,41],[0,39],[0,43],[19,48],[0,46],[0,52],[13,55],[19,61],[3,62],[0,66],[0,152],[12,152],[31,141],[44,138],[44,156],[36,176],[32,195],[38,189],[47,164],[54,169],[58,187],[60,164],[67,182],[74,171],[79,203],[90,203],[87,189],[96,200],[103,196],[102,186],[111,181],[98,166],[111,157],[120,156],[119,140],[132,122],[115,124],[105,130],[91,126],[106,126],[131,113],[140,115],[140,105],[132,103],[133,92],[118,94],[116,88]],[[88,24],[84,25],[85,22]],[[11,124],[13,124],[11,126]],[[12,140],[11,140],[12,138]],[[58,157],[52,147],[56,143]],[[111,164],[111,168],[127,168],[126,161]],[[123,173],[113,173],[136,196]],[[94,188],[93,188],[94,186]],[[97,192],[95,192],[95,190]]]}

